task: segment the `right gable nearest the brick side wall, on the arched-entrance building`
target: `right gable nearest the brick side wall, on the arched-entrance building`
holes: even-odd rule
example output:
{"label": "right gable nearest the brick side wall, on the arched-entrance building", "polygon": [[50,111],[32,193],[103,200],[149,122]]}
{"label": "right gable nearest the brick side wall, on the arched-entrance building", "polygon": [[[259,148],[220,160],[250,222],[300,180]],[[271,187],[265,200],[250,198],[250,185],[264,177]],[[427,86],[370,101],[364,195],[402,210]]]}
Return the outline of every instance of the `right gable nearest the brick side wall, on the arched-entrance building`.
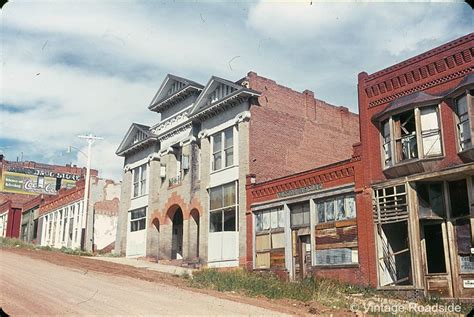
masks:
{"label": "right gable nearest the brick side wall, on the arched-entrance building", "polygon": [[260,93],[231,81],[213,76],[197,98],[191,117],[203,120],[215,113],[240,104]]}

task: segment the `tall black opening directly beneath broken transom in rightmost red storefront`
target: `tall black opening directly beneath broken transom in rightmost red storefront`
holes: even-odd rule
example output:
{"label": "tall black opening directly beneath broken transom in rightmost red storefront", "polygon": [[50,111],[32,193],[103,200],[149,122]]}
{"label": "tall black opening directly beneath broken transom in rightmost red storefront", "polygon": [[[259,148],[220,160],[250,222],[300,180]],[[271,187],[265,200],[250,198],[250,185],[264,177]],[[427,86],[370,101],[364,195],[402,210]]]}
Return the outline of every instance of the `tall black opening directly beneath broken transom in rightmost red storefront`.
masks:
{"label": "tall black opening directly beneath broken transom in rightmost red storefront", "polygon": [[441,224],[426,224],[423,229],[428,273],[446,273]]}

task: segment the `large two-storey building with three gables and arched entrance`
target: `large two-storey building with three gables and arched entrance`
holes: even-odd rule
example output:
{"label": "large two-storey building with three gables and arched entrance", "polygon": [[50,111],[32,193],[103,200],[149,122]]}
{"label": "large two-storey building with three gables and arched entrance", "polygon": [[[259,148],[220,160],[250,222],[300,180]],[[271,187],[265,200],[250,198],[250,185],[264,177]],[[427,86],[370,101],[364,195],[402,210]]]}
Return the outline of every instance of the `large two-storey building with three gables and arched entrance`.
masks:
{"label": "large two-storey building with three gables and arched entrance", "polygon": [[117,251],[127,256],[245,265],[246,175],[269,180],[329,164],[359,140],[347,108],[254,72],[205,86],[168,75],[149,110],[161,121],[133,124],[117,150]]}

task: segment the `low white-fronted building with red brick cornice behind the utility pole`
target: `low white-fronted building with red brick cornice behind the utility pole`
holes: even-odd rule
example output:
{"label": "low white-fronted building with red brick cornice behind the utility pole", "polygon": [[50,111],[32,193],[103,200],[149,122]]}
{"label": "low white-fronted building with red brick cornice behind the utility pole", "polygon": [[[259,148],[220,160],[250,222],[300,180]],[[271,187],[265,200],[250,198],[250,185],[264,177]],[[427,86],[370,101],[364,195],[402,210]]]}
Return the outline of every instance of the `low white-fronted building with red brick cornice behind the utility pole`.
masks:
{"label": "low white-fronted building with red brick cornice behind the utility pole", "polygon": [[61,189],[38,208],[37,242],[53,248],[107,252],[115,245],[120,184],[91,177],[87,213],[84,181]]}

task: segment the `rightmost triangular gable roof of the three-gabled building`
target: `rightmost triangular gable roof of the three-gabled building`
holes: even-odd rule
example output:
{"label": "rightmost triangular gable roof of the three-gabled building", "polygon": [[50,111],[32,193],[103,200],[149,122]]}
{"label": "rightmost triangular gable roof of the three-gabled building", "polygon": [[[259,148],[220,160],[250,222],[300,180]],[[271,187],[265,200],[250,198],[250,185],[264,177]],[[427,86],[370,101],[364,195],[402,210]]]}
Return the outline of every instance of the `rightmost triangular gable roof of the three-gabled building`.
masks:
{"label": "rightmost triangular gable roof of the three-gabled building", "polygon": [[[228,88],[222,90],[221,87]],[[215,94],[217,89],[220,89],[220,91],[218,94]],[[217,99],[214,98],[216,96],[218,97]],[[260,93],[226,79],[212,76],[196,100],[191,110],[191,117],[197,117],[203,112],[207,112],[223,103],[243,96],[260,96]]]}

